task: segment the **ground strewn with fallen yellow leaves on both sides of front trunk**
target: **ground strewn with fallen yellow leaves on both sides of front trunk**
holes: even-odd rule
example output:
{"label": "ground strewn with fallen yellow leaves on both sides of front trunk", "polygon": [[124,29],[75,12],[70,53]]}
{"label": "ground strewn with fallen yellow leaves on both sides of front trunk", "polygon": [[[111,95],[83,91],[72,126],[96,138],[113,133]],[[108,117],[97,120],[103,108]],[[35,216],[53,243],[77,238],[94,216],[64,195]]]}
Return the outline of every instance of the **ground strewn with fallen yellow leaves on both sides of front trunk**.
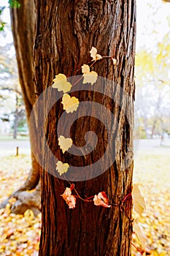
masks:
{"label": "ground strewn with fallen yellow leaves on both sides of front trunk", "polygon": [[[170,255],[170,148],[142,146],[135,158],[134,182],[139,184],[146,200],[147,209],[139,217],[146,238],[147,252],[152,256]],[[4,155],[0,165],[0,203],[26,180],[30,168],[27,154],[15,157]],[[9,204],[0,209],[0,255],[38,255],[41,214],[34,218],[31,211],[26,214],[11,214]],[[135,246],[140,248],[135,235]],[[133,255],[141,255],[133,247]],[[124,256],[124,255],[123,255]]]}

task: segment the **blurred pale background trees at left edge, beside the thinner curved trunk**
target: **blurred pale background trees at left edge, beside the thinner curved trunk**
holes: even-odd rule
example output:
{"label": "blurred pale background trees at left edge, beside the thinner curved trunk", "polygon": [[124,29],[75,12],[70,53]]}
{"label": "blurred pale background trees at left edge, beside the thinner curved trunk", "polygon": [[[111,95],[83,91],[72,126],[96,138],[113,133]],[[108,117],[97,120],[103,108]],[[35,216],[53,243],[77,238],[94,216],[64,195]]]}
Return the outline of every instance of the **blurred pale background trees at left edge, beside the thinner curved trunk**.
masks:
{"label": "blurred pale background trees at left edge, beside the thinner curved trunk", "polygon": [[[16,59],[10,53],[12,46],[13,45],[9,43],[4,47],[0,47],[0,91],[2,96],[1,107],[4,108],[4,111],[7,111],[7,113],[4,112],[3,116],[9,116],[9,119],[10,116],[13,116],[13,138],[17,138],[18,126],[20,121],[23,121],[26,114],[20,83],[18,81]],[[10,101],[15,104],[15,107],[14,105],[9,105]],[[3,116],[1,117],[2,120],[4,120]]]}

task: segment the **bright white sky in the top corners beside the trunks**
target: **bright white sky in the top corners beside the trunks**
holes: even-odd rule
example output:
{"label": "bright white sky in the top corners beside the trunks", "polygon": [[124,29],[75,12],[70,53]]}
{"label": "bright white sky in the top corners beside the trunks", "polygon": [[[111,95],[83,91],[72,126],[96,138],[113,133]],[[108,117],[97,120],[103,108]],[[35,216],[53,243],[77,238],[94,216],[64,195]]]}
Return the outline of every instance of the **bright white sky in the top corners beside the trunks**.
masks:
{"label": "bright white sky in the top corners beside the trunks", "polygon": [[[8,0],[1,0],[1,6],[3,5],[8,6]],[[170,32],[170,3],[163,3],[161,0],[136,0],[136,8],[136,51],[143,46],[153,50],[163,36]],[[9,23],[8,9],[4,10],[3,20]],[[12,42],[12,35],[7,33],[5,40],[2,37],[0,40],[1,45],[5,45],[6,42]]]}

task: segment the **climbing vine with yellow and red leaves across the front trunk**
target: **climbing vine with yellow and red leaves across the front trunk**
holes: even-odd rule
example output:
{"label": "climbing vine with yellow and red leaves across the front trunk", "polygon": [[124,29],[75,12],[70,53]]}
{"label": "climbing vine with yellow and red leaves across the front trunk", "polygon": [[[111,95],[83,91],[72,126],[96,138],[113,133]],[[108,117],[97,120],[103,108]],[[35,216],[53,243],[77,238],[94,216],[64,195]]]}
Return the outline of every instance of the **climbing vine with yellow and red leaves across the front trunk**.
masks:
{"label": "climbing vine with yellow and red leaves across the front trunk", "polygon": [[[71,97],[68,93],[71,91],[72,87],[75,86],[80,80],[82,80],[82,83],[90,83],[92,86],[96,83],[98,74],[95,71],[91,71],[90,68],[93,67],[93,65],[96,63],[96,61],[101,61],[101,59],[111,59],[112,64],[115,66],[117,64],[117,60],[114,59],[112,56],[101,56],[97,53],[97,49],[92,47],[90,50],[90,57],[92,60],[88,64],[82,64],[82,76],[80,77],[77,82],[74,84],[69,83],[69,81],[66,78],[66,75],[59,73],[58,75],[55,75],[55,78],[53,79],[53,89],[58,89],[58,91],[63,91],[63,97],[61,104],[63,105],[63,110],[66,110],[66,113],[73,113],[79,108],[79,99],[76,97]],[[58,146],[60,146],[61,151],[63,154],[69,149],[72,148],[72,138],[64,138],[63,135],[60,135],[58,138]],[[59,175],[62,176],[64,173],[67,173],[69,171],[69,164],[67,162],[61,162],[58,160],[56,163],[56,170],[58,171]],[[69,182],[69,181],[68,181]],[[134,211],[136,211],[140,216],[142,215],[144,209],[145,209],[145,203],[144,203],[144,197],[142,197],[142,194],[139,190],[139,187],[134,184],[133,190],[130,194],[126,195],[122,201],[119,203],[114,203],[109,200],[106,193],[104,191],[98,192],[98,195],[92,195],[87,198],[80,197],[79,193],[77,192],[77,189],[74,187],[74,184],[70,184],[70,187],[66,187],[65,191],[61,195],[63,197],[63,200],[66,201],[66,204],[69,206],[69,208],[75,208],[76,207],[76,201],[77,199],[80,199],[86,203],[93,203],[95,206],[102,206],[104,208],[110,208],[112,206],[117,206],[120,208],[120,211],[125,211],[126,216],[128,217],[128,214],[126,213],[126,209],[124,207],[125,201],[129,198],[133,199],[134,203]],[[74,192],[74,195],[72,194]],[[133,230],[136,234],[137,238],[140,241],[140,244],[142,246],[142,249],[137,248],[134,244],[132,244],[141,254],[143,254],[144,248],[145,248],[145,241],[142,235],[142,231],[138,225],[138,223],[135,222],[134,219],[131,219],[128,217],[129,221],[134,223]]]}

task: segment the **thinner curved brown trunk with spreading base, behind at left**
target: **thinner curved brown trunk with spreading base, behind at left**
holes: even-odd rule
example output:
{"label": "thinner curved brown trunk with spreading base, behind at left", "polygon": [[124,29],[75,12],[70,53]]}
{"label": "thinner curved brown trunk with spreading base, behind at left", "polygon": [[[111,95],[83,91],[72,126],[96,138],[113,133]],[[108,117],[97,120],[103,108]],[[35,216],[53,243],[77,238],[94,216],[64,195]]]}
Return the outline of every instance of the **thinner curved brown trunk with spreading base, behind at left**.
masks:
{"label": "thinner curved brown trunk with spreading base, behind at left", "polygon": [[[34,1],[19,1],[20,8],[11,8],[12,34],[15,45],[15,52],[18,62],[18,72],[23,100],[26,106],[26,116],[29,121],[31,110],[35,102],[35,89],[33,81],[33,45],[34,45],[34,24],[35,10]],[[36,116],[34,122],[28,127],[30,140],[36,144]],[[39,184],[39,163],[34,154],[31,153],[31,170],[25,184],[15,191],[10,197],[18,200],[11,207],[12,213],[23,214],[28,208],[32,208],[37,214],[40,210],[40,185]],[[37,186],[38,185],[38,186]],[[36,188],[33,193],[25,192]],[[1,204],[6,206],[7,200]],[[35,210],[36,209],[36,210]]]}

